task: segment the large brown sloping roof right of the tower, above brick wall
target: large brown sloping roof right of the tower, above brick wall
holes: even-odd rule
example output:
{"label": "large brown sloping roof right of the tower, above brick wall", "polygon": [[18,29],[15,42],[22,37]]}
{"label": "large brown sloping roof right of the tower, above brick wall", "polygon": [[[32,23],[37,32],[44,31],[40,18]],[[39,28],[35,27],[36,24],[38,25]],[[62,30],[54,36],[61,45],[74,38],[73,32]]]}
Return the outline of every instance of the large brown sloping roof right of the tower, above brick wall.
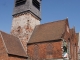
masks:
{"label": "large brown sloping roof right of the tower, above brick wall", "polygon": [[68,19],[36,26],[28,44],[60,39],[65,32],[66,21]]}

